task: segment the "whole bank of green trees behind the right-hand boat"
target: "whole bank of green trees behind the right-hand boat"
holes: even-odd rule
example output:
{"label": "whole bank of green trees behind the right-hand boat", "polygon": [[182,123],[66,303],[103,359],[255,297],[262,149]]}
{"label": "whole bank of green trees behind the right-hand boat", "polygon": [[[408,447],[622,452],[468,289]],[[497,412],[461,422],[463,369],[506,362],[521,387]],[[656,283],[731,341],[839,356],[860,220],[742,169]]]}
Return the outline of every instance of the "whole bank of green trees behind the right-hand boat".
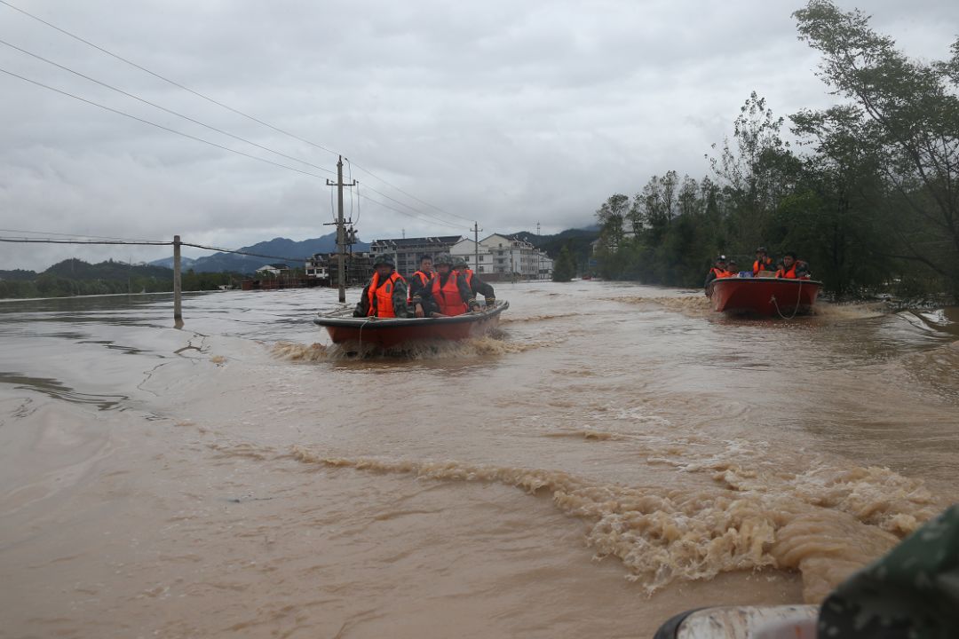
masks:
{"label": "whole bank of green trees behind the right-hand boat", "polygon": [[[837,294],[959,294],[959,40],[910,59],[860,11],[793,13],[839,101],[776,117],[753,93],[712,174],[652,176],[596,212],[597,274],[702,285],[715,256],[797,251]],[[788,122],[788,124],[787,124]]]}

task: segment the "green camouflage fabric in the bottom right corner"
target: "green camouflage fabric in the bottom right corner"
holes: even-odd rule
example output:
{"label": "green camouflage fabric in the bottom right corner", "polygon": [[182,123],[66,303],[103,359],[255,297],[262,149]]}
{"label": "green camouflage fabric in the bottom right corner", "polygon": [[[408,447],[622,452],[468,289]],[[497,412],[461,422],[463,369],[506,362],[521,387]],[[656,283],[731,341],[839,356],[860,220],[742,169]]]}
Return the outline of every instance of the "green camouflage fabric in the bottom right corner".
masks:
{"label": "green camouflage fabric in the bottom right corner", "polygon": [[817,636],[959,637],[959,505],[839,585],[823,602]]}

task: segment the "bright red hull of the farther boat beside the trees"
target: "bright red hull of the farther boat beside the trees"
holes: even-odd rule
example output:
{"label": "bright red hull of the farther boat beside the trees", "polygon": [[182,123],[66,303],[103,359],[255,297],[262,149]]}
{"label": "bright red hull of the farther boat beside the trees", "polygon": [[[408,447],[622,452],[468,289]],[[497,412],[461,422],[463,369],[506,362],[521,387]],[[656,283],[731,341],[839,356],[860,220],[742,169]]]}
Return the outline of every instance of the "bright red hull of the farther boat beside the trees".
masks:
{"label": "bright red hull of the farther boat beside the trees", "polygon": [[816,280],[730,277],[713,280],[706,294],[715,310],[789,318],[811,312],[822,287]]}

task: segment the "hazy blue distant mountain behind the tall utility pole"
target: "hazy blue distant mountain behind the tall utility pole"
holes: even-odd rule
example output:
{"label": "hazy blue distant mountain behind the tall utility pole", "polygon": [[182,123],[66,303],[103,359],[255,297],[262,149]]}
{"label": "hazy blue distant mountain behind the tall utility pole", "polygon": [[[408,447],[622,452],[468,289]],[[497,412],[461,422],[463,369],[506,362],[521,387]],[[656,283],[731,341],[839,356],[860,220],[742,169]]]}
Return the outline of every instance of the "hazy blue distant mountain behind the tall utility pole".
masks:
{"label": "hazy blue distant mountain behind the tall utility pole", "polygon": [[[332,253],[336,251],[337,234],[334,232],[320,238],[303,241],[273,238],[272,240],[257,242],[252,246],[244,246],[237,250],[243,251],[244,253],[256,253],[257,255],[270,257],[253,257],[250,255],[237,255],[235,253],[214,253],[213,255],[192,260],[189,265],[183,262],[181,267],[184,270],[192,268],[197,273],[220,273],[222,271],[253,273],[260,266],[272,263],[286,263],[302,268],[305,258],[315,253]],[[366,242],[357,242],[353,244],[353,250],[368,251],[369,244]],[[150,263],[172,268],[173,258],[164,258],[163,260]]]}

